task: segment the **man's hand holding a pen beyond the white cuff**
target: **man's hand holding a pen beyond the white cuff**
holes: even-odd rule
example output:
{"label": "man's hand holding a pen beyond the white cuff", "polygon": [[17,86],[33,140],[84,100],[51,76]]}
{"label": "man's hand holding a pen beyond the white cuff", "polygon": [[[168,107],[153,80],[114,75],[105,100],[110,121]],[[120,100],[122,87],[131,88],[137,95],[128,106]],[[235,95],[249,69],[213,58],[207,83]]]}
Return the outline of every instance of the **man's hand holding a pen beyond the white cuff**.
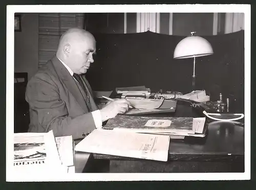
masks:
{"label": "man's hand holding a pen beyond the white cuff", "polygon": [[116,117],[117,114],[123,114],[129,109],[131,103],[126,99],[118,99],[105,105],[101,110],[101,120],[102,122]]}

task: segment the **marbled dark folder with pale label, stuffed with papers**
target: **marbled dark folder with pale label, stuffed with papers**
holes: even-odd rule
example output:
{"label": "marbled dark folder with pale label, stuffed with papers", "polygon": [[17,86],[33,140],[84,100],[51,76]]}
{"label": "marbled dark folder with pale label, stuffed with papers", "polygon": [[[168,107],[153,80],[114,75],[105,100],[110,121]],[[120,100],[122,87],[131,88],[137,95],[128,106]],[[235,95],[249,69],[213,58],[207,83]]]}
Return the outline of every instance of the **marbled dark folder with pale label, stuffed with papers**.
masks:
{"label": "marbled dark folder with pale label, stuffed with papers", "polygon": [[205,118],[117,115],[102,128],[137,133],[165,134],[173,139],[180,139],[185,136],[204,137],[207,124],[205,124]]}

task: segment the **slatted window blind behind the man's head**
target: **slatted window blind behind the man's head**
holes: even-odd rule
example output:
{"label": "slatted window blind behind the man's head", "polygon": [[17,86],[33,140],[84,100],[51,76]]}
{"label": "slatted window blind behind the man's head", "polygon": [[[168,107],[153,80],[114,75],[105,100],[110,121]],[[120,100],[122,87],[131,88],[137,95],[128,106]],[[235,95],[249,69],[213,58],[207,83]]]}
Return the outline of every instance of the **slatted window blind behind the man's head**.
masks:
{"label": "slatted window blind behind the man's head", "polygon": [[55,55],[64,32],[74,27],[84,29],[84,13],[40,13],[38,19],[38,67],[41,67]]}

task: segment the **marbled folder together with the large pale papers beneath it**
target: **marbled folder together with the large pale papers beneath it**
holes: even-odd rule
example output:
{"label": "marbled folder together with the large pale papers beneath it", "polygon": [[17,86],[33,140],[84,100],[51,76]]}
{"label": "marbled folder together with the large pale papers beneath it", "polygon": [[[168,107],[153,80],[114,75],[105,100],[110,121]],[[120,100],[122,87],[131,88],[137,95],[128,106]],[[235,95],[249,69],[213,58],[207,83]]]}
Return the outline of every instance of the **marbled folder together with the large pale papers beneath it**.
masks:
{"label": "marbled folder together with the large pale papers beneath it", "polygon": [[79,142],[75,150],[167,161],[170,139],[204,137],[205,118],[117,115]]}

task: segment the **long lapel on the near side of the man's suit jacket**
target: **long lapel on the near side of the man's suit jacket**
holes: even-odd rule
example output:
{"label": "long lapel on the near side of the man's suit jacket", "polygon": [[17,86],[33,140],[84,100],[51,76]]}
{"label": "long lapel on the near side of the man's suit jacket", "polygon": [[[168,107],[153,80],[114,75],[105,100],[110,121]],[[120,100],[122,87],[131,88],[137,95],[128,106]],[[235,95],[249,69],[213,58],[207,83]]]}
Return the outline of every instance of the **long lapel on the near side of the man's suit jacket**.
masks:
{"label": "long lapel on the near side of the man's suit jacket", "polygon": [[78,104],[83,108],[85,112],[88,112],[86,101],[84,101],[83,95],[79,90],[79,87],[75,82],[73,76],[71,76],[67,68],[59,61],[59,59],[56,56],[53,57],[52,63],[56,69],[59,78],[67,86],[69,91],[73,94]]}

